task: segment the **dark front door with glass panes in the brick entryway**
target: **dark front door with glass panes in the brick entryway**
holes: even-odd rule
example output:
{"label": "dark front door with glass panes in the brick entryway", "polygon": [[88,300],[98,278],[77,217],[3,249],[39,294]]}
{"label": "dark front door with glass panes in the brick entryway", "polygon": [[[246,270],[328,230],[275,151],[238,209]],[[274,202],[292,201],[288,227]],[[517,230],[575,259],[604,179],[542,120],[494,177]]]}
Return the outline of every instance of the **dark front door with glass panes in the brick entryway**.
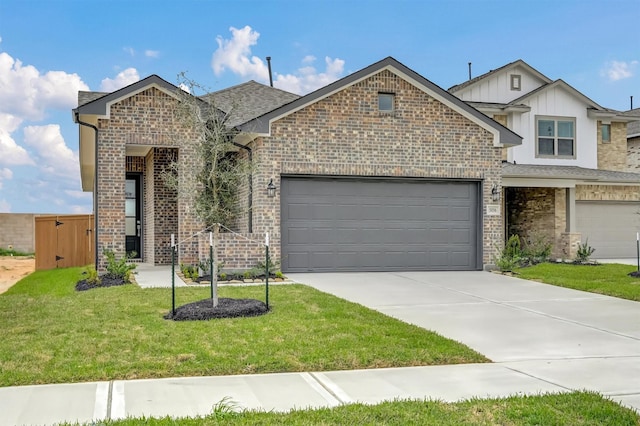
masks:
{"label": "dark front door with glass panes in the brick entryway", "polygon": [[142,257],[142,174],[127,173],[125,184],[125,227],[127,254],[134,258]]}

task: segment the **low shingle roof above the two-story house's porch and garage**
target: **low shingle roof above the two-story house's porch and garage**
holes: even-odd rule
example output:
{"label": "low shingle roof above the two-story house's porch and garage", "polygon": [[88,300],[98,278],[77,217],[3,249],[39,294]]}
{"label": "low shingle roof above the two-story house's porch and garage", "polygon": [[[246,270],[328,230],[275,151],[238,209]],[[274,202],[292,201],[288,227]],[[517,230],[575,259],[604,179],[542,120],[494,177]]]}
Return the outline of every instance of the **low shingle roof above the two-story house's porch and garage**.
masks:
{"label": "low shingle roof above the two-story house's porch and garage", "polygon": [[640,173],[587,169],[577,166],[502,163],[502,177],[577,179],[609,183],[640,183]]}

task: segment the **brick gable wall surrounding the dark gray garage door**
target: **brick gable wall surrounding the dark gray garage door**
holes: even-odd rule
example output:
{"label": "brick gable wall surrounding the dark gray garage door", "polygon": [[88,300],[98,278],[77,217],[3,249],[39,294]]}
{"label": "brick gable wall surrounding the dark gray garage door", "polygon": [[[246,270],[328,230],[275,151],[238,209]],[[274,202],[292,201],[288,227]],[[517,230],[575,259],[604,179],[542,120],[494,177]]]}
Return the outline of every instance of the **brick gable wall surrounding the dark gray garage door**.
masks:
{"label": "brick gable wall surrounding the dark gray garage door", "polygon": [[[393,113],[378,111],[380,92],[395,94]],[[278,189],[287,174],[484,180],[483,205],[502,183],[490,132],[386,70],[272,123],[254,146],[254,233],[272,235],[275,257],[280,193],[260,190],[271,178]],[[489,264],[504,241],[501,216],[483,216],[482,237]]]}

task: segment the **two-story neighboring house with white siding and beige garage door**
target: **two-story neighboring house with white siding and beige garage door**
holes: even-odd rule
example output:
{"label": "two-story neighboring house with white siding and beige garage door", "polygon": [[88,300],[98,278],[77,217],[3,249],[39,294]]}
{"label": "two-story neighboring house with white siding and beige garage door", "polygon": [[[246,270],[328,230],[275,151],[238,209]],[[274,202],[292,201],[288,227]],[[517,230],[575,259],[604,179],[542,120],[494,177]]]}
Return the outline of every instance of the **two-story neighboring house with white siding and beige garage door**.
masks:
{"label": "two-story neighboring house with white siding and beige garage door", "polygon": [[637,117],[522,60],[449,92],[523,138],[503,152],[507,235],[525,244],[546,238],[557,257],[573,258],[587,241],[596,258],[635,257],[640,174],[628,173],[637,169],[627,158],[627,124]]}

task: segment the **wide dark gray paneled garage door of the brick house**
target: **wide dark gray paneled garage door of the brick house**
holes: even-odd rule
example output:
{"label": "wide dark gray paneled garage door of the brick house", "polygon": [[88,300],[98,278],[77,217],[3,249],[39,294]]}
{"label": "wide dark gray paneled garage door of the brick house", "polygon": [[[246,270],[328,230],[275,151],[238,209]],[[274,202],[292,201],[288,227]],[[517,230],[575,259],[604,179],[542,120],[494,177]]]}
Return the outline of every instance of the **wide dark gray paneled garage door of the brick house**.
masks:
{"label": "wide dark gray paneled garage door of the brick house", "polygon": [[282,269],[482,267],[477,182],[282,179]]}

